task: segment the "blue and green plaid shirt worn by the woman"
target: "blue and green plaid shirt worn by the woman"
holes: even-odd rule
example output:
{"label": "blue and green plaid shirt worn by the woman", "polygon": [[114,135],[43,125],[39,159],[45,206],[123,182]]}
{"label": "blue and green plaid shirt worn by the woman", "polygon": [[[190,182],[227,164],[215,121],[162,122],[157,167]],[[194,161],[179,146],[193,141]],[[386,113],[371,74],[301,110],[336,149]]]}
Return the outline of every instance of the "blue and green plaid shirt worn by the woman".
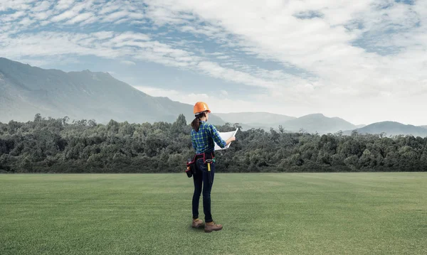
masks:
{"label": "blue and green plaid shirt worn by the woman", "polygon": [[221,139],[214,125],[208,124],[206,121],[200,121],[199,132],[191,129],[191,143],[193,143],[196,154],[214,152],[214,142],[221,148],[226,146],[226,141]]}

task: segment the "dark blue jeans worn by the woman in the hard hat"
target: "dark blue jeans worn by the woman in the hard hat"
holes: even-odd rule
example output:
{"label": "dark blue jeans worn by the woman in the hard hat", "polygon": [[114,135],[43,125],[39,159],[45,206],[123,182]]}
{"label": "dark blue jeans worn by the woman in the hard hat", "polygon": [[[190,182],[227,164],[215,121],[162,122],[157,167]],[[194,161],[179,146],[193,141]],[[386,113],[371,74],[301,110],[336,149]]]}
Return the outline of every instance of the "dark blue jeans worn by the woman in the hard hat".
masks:
{"label": "dark blue jeans worn by the woman in the hard hat", "polygon": [[[203,163],[203,158],[196,161],[196,174],[194,180],[194,195],[193,195],[193,219],[199,218],[199,201],[203,186],[203,212],[205,222],[213,222],[211,215],[211,189],[212,185],[209,182],[208,165]],[[214,184],[215,163],[211,163],[211,179]]]}

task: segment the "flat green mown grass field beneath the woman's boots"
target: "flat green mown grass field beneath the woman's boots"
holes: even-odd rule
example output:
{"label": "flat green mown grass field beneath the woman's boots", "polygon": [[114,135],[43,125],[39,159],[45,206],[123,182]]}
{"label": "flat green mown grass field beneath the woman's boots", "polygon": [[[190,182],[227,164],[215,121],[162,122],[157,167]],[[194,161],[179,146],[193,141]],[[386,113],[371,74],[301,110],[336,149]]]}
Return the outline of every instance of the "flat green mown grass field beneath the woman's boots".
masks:
{"label": "flat green mown grass field beneath the woman's boots", "polygon": [[[427,173],[0,175],[0,254],[427,254]],[[200,203],[201,217],[203,207]]]}

